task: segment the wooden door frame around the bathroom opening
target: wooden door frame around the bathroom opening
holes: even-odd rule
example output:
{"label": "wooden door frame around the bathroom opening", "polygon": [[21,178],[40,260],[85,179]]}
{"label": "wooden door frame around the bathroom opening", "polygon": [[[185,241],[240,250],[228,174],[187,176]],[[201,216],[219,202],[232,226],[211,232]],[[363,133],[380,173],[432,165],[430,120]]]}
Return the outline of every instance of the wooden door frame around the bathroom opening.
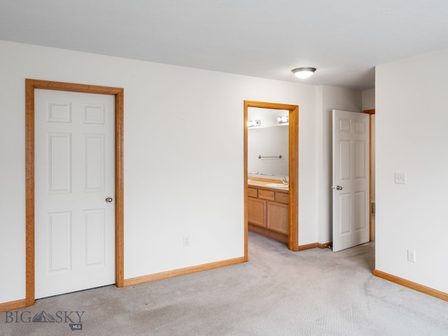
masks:
{"label": "wooden door frame around the bathroom opening", "polygon": [[244,101],[244,260],[248,260],[248,223],[247,223],[247,152],[248,152],[248,108],[274,109],[289,111],[289,223],[288,223],[288,248],[291,251],[299,251],[299,203],[298,203],[298,177],[299,177],[299,106],[288,104],[276,104],[267,102]]}

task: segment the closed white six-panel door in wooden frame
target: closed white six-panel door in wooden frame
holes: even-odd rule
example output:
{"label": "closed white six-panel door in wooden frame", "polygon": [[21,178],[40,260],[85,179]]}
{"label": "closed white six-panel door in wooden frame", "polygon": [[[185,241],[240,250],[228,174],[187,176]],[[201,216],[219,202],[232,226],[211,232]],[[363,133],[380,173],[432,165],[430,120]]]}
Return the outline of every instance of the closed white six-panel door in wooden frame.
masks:
{"label": "closed white six-panel door in wooden frame", "polygon": [[35,90],[36,298],[115,283],[114,111],[111,95]]}

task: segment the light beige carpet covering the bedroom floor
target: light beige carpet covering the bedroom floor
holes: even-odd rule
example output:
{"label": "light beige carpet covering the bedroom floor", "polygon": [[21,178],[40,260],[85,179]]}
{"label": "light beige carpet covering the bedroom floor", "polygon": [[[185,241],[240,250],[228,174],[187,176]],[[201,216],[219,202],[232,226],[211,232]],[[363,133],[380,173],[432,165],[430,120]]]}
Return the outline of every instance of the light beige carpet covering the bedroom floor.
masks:
{"label": "light beige carpet covering the bedroom floor", "polygon": [[249,259],[37,300],[9,320],[85,311],[83,330],[69,328],[76,313],[67,323],[6,323],[3,312],[0,335],[448,335],[448,302],[372,275],[374,243],[337,253],[291,252],[251,232]]}

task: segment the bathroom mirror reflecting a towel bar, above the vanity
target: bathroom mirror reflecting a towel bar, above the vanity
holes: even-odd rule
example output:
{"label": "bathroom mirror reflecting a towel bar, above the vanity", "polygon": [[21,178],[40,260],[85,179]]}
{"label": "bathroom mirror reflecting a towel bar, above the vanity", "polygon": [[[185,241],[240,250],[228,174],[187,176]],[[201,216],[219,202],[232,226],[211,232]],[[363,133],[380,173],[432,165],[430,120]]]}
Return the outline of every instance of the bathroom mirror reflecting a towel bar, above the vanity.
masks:
{"label": "bathroom mirror reflecting a towel bar, above the vanity", "polygon": [[248,177],[288,177],[288,114],[288,110],[248,108]]}

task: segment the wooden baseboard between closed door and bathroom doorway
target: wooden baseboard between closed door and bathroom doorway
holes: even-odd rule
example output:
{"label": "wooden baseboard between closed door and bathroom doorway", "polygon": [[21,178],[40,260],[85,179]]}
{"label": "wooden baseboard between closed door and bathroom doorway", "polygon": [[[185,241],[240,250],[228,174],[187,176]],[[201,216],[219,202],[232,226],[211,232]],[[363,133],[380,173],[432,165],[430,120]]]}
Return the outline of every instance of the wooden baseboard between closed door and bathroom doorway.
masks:
{"label": "wooden baseboard between closed door and bathroom doorway", "polygon": [[186,274],[195,273],[195,272],[207,271],[209,269],[214,269],[214,268],[218,268],[218,267],[235,265],[235,264],[239,264],[241,262],[246,262],[244,257],[223,260],[223,261],[218,261],[218,262],[210,262],[208,264],[197,265],[197,266],[192,266],[192,267],[173,269],[172,271],[167,271],[167,272],[160,272],[160,273],[148,274],[148,275],[144,275],[144,276],[137,276],[135,278],[125,279],[124,284],[125,284],[125,286],[133,286],[133,285],[138,285],[139,283],[162,280],[162,279],[172,278],[173,276],[186,275]]}

